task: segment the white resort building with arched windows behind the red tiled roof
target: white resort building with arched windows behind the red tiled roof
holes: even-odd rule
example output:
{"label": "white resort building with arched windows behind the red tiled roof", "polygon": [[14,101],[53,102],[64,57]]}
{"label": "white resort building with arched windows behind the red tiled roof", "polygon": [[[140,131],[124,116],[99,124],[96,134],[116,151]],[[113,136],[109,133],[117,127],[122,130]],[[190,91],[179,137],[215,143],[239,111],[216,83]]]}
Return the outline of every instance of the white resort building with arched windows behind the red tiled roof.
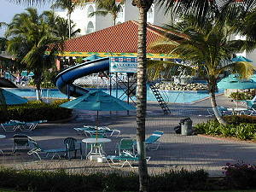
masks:
{"label": "white resort building with arched windows behind the red tiled roof", "polygon": [[[241,1],[239,0],[238,3]],[[121,0],[116,0],[117,4],[121,3]],[[113,26],[114,23],[119,25],[128,20],[138,20],[138,9],[131,5],[131,0],[126,0],[125,3],[120,4],[121,9],[119,10],[118,17],[115,22],[113,21],[112,15],[108,14],[106,16],[94,15],[90,17],[90,13],[95,12],[97,9],[96,3],[91,1],[91,3],[85,3],[83,6],[78,6],[71,15],[71,19],[76,24],[76,27],[81,30],[79,36],[89,34],[91,32],[97,32],[102,29]],[[67,11],[56,12],[57,15],[67,18]],[[153,3],[152,7],[148,10],[148,23],[154,26],[163,26],[173,19],[171,14],[165,15],[165,10],[160,5]],[[120,34],[123,35],[123,34]],[[135,34],[136,35],[136,34]],[[137,36],[137,35],[136,35]],[[234,36],[234,39],[241,39],[239,35]],[[92,51],[92,50],[91,50]],[[242,55],[247,57],[252,61],[256,61],[256,50],[252,53],[247,53],[246,51],[241,52],[237,55]],[[254,64],[256,65],[256,64]]]}

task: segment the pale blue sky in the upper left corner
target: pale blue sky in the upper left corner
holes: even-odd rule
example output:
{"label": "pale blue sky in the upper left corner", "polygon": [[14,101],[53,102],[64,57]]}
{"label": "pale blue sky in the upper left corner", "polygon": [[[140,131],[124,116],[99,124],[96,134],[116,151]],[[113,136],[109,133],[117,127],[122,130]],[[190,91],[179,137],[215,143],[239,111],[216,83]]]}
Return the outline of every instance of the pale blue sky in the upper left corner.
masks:
{"label": "pale blue sky in the upper left corner", "polygon": [[[0,0],[0,22],[9,23],[16,14],[25,12],[25,9],[28,6],[26,4],[16,4],[10,3],[10,0]],[[38,9],[39,13],[42,13],[44,10],[49,10],[50,4],[44,3],[41,5],[34,5],[33,7]],[[3,36],[5,29],[2,27],[0,29],[0,36]]]}

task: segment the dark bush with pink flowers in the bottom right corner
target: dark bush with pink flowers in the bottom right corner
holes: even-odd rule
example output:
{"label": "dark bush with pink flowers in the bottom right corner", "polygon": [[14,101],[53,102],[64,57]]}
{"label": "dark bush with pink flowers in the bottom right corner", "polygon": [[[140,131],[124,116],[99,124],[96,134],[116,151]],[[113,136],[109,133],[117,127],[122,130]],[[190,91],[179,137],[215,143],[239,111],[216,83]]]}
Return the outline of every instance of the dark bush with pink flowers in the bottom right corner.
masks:
{"label": "dark bush with pink flowers in the bottom right corner", "polygon": [[244,163],[227,163],[223,169],[231,188],[252,189],[256,187],[256,166]]}

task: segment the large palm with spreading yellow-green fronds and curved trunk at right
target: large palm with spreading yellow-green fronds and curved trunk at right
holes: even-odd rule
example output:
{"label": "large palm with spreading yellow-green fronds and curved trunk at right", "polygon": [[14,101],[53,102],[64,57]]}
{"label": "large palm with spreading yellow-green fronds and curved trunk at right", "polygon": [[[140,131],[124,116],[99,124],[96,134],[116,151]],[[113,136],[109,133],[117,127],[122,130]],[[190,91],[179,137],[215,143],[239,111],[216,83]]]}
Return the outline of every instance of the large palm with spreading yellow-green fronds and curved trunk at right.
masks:
{"label": "large palm with spreading yellow-green fronds and curved trunk at right", "polygon": [[[236,17],[237,18],[237,17]],[[217,80],[219,75],[230,69],[240,73],[242,78],[247,78],[253,73],[253,65],[248,62],[230,63],[233,55],[246,48],[252,49],[255,44],[247,40],[230,40],[234,34],[234,27],[228,24],[236,25],[236,18],[218,18],[204,20],[201,26],[200,20],[194,15],[184,17],[183,21],[172,26],[172,30],[183,32],[187,35],[179,44],[170,38],[165,38],[160,42],[153,44],[154,49],[162,46],[168,47],[169,54],[175,54],[184,61],[191,61],[192,65],[197,65],[208,82],[212,109],[218,121],[226,125],[222,116],[218,113],[215,91],[217,89]]]}

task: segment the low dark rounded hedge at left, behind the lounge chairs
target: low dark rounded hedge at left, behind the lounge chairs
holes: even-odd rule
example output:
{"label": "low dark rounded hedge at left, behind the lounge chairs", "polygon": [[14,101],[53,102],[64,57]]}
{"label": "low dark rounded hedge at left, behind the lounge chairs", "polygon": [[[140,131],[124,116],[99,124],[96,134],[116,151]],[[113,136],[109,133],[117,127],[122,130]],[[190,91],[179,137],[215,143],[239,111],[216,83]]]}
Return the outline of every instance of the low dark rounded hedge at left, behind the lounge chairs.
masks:
{"label": "low dark rounded hedge at left, behind the lounge chairs", "polygon": [[2,122],[10,119],[20,121],[58,120],[71,117],[72,109],[61,108],[57,103],[27,102],[22,105],[9,106],[7,112],[0,113],[7,114],[4,119],[1,119]]}

